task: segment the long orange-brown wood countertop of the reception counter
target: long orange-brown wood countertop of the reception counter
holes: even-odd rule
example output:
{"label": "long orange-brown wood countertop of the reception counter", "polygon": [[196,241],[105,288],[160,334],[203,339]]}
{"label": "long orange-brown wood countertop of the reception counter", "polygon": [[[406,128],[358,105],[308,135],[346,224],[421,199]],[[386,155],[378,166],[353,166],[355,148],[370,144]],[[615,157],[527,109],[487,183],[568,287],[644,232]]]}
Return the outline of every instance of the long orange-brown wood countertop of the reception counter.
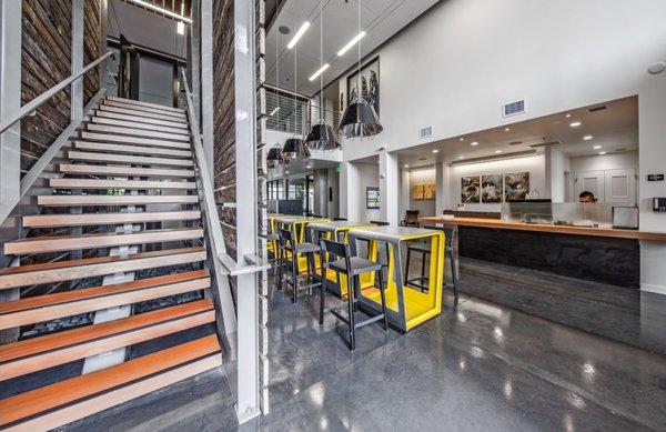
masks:
{"label": "long orange-brown wood countertop of the reception counter", "polygon": [[441,217],[420,218],[421,223],[441,223],[444,225],[464,225],[480,228],[495,228],[501,230],[516,231],[541,231],[562,234],[575,235],[595,235],[610,237],[616,239],[634,239],[648,241],[666,241],[666,232],[646,232],[638,230],[622,230],[616,228],[585,228],[585,227],[566,227],[566,225],[549,225],[542,223],[519,223],[519,222],[503,222],[498,219],[481,219],[481,218],[454,218],[451,220]]}

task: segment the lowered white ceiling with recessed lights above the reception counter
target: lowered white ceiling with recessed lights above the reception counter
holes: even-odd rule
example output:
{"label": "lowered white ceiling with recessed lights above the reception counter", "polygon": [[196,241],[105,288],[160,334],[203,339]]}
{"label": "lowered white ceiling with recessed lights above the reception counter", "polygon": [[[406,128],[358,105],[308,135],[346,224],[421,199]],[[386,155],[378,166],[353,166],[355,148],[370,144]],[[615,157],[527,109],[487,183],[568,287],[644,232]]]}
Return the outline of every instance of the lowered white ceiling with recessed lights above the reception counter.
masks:
{"label": "lowered white ceiling with recessed lights above the reception counter", "polygon": [[[606,107],[605,110],[591,109]],[[567,117],[568,115],[568,117]],[[582,124],[572,128],[571,123]],[[508,128],[509,130],[505,130]],[[583,137],[592,135],[592,140]],[[516,143],[521,141],[521,143]],[[638,98],[629,97],[589,107],[573,109],[538,119],[526,120],[501,128],[487,129],[462,137],[412,147],[400,151],[400,163],[410,168],[434,164],[436,161],[452,162],[474,158],[504,157],[508,153],[543,150],[531,148],[538,143],[561,141],[554,148],[569,157],[608,154],[638,149]],[[478,144],[473,147],[472,142]],[[594,149],[602,145],[601,149]],[[437,150],[436,153],[433,150]],[[501,153],[496,153],[501,151]],[[463,157],[464,159],[461,159]]]}

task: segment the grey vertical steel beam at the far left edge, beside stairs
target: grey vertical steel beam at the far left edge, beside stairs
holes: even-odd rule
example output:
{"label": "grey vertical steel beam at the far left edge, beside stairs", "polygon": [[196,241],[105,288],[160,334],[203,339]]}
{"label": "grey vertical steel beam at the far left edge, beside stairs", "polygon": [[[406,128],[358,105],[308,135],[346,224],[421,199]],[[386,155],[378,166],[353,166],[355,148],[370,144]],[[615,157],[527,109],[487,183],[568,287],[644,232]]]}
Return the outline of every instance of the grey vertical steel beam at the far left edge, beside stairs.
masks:
{"label": "grey vertical steel beam at the far left edge, beside stairs", "polygon": [[[21,1],[0,1],[0,124],[21,109]],[[20,179],[21,124],[12,122],[0,129],[1,207],[18,202]]]}

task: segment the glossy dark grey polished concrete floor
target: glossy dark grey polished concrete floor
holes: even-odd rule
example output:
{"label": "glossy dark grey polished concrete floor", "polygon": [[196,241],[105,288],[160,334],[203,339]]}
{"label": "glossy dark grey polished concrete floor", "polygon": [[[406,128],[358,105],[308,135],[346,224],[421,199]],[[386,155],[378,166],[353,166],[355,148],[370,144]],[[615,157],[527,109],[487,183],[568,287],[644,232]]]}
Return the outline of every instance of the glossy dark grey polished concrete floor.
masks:
{"label": "glossy dark grey polished concrete floor", "polygon": [[[461,270],[463,288],[487,273],[468,262]],[[542,284],[539,273],[522,280],[528,277]],[[345,326],[331,314],[320,326],[316,305],[304,293],[296,305],[284,292],[273,293],[271,412],[240,430],[666,430],[666,356],[648,350],[447,293],[441,317],[408,334],[363,328],[351,352]],[[236,429],[221,372],[64,428]]]}

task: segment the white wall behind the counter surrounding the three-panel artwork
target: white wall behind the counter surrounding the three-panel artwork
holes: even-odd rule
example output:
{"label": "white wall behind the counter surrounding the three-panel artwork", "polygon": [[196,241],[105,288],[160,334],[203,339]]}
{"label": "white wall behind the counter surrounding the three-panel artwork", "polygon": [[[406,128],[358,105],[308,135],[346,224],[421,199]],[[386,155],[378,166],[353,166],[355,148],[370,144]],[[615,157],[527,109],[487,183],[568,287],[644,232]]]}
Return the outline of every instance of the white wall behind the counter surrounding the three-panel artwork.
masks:
{"label": "white wall behind the counter surrounding the three-panel artwork", "polygon": [[[461,202],[461,179],[466,175],[478,174],[506,174],[509,172],[529,172],[529,189],[538,191],[541,198],[546,195],[545,155],[535,154],[526,158],[505,159],[491,162],[453,165],[450,169],[448,197],[444,200],[447,210],[455,210]],[[500,203],[465,204],[465,211],[498,212]]]}

